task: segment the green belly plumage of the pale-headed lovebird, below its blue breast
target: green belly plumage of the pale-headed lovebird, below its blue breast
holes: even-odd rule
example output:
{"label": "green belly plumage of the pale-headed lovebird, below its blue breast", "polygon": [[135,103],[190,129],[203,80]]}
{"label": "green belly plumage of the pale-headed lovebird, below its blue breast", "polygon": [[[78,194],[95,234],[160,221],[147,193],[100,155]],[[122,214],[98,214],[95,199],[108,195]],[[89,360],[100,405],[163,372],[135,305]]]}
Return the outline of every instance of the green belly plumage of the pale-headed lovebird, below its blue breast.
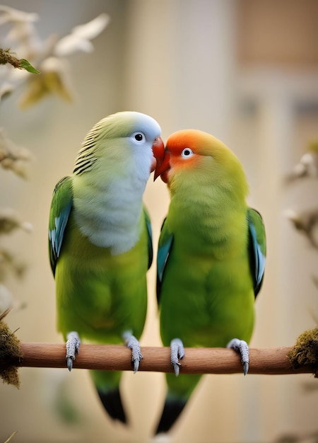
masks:
{"label": "green belly plumage of the pale-headed lovebird, below its blue breast", "polygon": [[149,261],[146,217],[140,227],[136,246],[112,255],[110,248],[95,246],[81,234],[71,212],[55,271],[57,326],[65,339],[70,330],[97,343],[122,343],[125,330],[141,336]]}

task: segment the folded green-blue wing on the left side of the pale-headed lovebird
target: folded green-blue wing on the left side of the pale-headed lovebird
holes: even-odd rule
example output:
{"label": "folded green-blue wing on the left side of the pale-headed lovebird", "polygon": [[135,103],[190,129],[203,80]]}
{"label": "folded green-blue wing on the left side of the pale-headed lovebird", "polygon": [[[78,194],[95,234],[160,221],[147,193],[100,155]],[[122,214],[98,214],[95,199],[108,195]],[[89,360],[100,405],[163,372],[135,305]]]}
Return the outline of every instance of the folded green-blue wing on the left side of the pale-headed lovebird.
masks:
{"label": "folded green-blue wing on the left side of the pale-headed lovebird", "polygon": [[62,178],[54,188],[49,211],[49,261],[53,275],[61,252],[66,224],[73,205],[71,177]]}

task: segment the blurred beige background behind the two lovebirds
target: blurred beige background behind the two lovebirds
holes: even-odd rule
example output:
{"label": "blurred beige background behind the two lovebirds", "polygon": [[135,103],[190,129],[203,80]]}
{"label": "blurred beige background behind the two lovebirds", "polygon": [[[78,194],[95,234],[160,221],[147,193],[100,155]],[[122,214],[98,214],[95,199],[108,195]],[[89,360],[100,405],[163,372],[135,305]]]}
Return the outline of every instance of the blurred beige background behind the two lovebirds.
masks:
{"label": "blurred beige background behind the two lovebirds", "polygon": [[[51,93],[33,103],[41,94],[32,82],[39,79],[27,74],[0,103],[0,127],[32,157],[25,162],[27,180],[0,170],[0,208],[18,211],[33,225],[32,232],[16,230],[0,238],[17,267],[26,265],[21,278],[6,273],[2,287],[3,304],[14,306],[7,322],[18,329],[18,338],[62,343],[47,254],[52,190],[71,173],[88,130],[119,110],[154,117],[164,140],[189,127],[210,132],[242,161],[249,204],[263,215],[268,238],[251,347],[293,345],[303,330],[317,326],[312,277],[318,275],[318,251],[285,216],[288,209],[299,214],[317,209],[317,178],[285,180],[318,140],[317,1],[10,0],[4,5],[37,13],[35,22],[28,16],[37,32],[35,46],[49,46],[52,35],[64,37],[101,13],[110,17],[92,39],[93,52],[60,57],[61,65],[53,69],[59,86]],[[13,25],[4,22],[0,10],[0,47],[29,57],[43,81],[49,63],[41,65],[28,48],[8,42]],[[1,72],[0,87],[9,76]],[[155,248],[169,202],[159,181],[150,180],[145,195]],[[148,273],[148,298],[141,345],[160,345],[155,266]],[[20,378],[19,390],[0,384],[0,442],[14,431],[16,443],[150,442],[165,396],[163,374],[125,373],[123,396],[131,420],[126,429],[103,412],[86,371],[23,368]],[[166,441],[269,443],[289,435],[294,440],[288,441],[312,442],[317,406],[317,381],[308,374],[208,375]]]}

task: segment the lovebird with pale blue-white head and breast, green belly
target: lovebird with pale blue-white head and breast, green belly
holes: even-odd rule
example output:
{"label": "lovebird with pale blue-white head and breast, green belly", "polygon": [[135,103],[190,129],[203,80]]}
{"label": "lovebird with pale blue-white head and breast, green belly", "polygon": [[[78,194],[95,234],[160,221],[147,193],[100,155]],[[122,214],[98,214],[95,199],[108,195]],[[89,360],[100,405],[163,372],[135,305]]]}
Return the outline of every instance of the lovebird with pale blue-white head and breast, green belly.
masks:
{"label": "lovebird with pale blue-white head and breast, green belly", "polygon": [[[54,188],[49,213],[49,259],[56,283],[57,330],[71,371],[81,340],[131,349],[134,372],[147,309],[151,223],[143,192],[163,145],[152,117],[109,115],[88,132],[73,173]],[[121,372],[91,371],[111,418],[126,423]]]}

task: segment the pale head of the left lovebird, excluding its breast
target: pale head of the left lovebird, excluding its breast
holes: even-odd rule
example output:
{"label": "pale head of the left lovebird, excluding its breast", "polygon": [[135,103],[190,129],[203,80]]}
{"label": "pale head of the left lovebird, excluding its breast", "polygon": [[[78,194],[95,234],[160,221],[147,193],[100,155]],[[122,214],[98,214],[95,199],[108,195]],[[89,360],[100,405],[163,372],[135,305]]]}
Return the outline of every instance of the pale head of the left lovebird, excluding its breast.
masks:
{"label": "pale head of the left lovebird, excluding its breast", "polygon": [[152,147],[162,144],[161,129],[152,117],[134,111],[108,115],[88,132],[78,153],[74,174],[94,169],[110,176],[126,176],[134,171],[136,177],[148,180],[155,168]]}

